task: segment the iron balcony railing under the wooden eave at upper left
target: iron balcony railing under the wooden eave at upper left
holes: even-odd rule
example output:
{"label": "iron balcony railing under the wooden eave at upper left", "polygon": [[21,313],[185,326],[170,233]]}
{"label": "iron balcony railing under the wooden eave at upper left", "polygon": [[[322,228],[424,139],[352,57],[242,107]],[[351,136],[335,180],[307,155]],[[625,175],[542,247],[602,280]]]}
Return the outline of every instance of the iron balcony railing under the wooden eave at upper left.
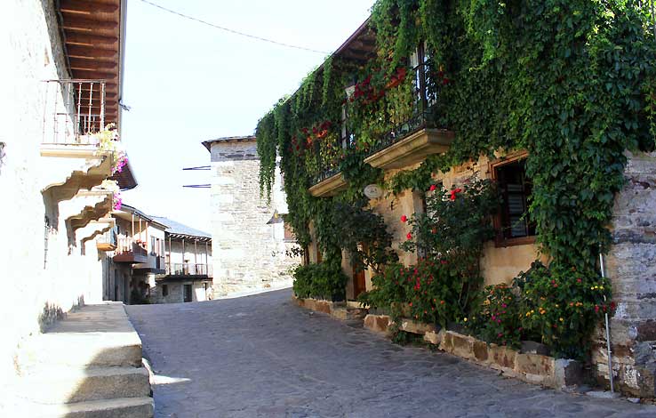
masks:
{"label": "iron balcony railing under the wooden eave at upper left", "polygon": [[44,99],[46,144],[97,145],[105,128],[104,80],[47,80]]}

